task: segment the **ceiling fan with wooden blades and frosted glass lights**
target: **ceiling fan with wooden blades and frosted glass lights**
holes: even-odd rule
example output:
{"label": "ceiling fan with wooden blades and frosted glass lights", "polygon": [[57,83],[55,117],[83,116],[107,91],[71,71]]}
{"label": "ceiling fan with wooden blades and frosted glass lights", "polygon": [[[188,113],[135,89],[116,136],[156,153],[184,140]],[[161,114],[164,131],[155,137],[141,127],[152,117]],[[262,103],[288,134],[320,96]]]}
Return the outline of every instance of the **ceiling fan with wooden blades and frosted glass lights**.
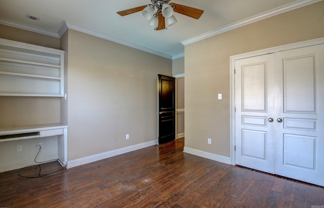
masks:
{"label": "ceiling fan with wooden blades and frosted glass lights", "polygon": [[142,11],[144,18],[150,20],[149,24],[154,27],[154,30],[163,30],[166,29],[166,24],[167,26],[171,26],[177,22],[176,18],[173,16],[173,12],[177,12],[194,19],[199,19],[204,13],[204,10],[175,3],[169,4],[171,0],[151,0],[151,2],[151,5],[144,5],[123,10],[117,12],[117,14],[120,16],[125,16]]}

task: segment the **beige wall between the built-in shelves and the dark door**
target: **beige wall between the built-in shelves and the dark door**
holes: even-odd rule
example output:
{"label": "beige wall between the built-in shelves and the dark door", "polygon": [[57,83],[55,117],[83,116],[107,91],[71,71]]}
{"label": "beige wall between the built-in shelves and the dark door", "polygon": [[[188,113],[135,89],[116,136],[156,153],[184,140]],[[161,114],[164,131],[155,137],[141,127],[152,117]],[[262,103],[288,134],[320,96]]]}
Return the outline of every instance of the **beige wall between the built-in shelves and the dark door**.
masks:
{"label": "beige wall between the built-in shelves and the dark door", "polygon": [[172,76],[172,60],[74,30],[62,42],[68,160],[156,140],[157,74]]}

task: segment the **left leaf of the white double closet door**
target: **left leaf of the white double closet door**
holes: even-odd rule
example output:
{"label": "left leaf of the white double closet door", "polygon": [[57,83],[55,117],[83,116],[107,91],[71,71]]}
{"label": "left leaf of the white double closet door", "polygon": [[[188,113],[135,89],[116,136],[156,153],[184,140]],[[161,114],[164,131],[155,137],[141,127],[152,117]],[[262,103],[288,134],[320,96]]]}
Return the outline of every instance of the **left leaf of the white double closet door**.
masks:
{"label": "left leaf of the white double closet door", "polygon": [[[274,173],[274,140],[268,93],[274,55],[235,61],[235,163]],[[271,97],[270,97],[271,98]]]}

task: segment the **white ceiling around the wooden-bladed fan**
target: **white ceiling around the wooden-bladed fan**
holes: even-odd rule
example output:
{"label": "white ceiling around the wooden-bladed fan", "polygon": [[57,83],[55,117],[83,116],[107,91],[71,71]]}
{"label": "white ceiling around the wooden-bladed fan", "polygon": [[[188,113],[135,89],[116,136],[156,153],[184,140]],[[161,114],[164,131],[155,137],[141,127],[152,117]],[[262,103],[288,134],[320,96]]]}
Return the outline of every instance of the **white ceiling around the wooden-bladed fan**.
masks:
{"label": "white ceiling around the wooden-bladed fan", "polygon": [[[175,59],[184,44],[320,0],[173,0],[204,10],[200,19],[175,13],[178,22],[155,31],[141,12],[116,12],[151,4],[150,0],[0,0],[0,24],[59,37],[62,25]],[[26,15],[40,18],[30,20]],[[64,28],[64,27],[63,27]],[[181,43],[182,42],[182,43]]]}

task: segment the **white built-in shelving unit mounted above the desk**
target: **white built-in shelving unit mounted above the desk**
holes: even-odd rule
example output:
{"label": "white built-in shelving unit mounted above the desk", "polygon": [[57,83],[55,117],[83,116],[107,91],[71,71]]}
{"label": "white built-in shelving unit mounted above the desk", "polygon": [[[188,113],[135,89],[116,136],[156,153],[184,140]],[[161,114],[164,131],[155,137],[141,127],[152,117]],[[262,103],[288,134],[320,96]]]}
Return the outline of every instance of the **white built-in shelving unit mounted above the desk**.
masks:
{"label": "white built-in shelving unit mounted above the desk", "polygon": [[64,50],[0,38],[0,95],[64,96]]}

